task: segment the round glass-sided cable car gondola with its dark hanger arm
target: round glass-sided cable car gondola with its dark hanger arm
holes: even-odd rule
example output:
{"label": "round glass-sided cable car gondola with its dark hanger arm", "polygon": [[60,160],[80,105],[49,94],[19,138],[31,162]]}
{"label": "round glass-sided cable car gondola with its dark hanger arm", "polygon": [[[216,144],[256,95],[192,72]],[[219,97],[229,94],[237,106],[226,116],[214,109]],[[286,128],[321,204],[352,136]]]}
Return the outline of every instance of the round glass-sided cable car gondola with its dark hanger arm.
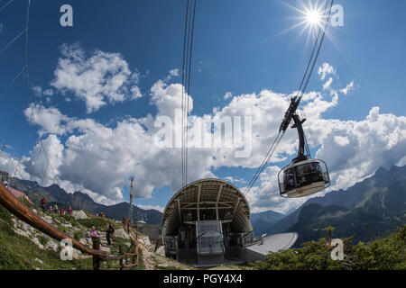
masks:
{"label": "round glass-sided cable car gondola with its dark hanger arm", "polygon": [[299,134],[299,151],[291,164],[285,166],[278,174],[279,190],[284,198],[298,198],[318,193],[330,184],[328,167],[323,160],[311,159],[304,154],[305,137],[299,115],[291,115]]}

